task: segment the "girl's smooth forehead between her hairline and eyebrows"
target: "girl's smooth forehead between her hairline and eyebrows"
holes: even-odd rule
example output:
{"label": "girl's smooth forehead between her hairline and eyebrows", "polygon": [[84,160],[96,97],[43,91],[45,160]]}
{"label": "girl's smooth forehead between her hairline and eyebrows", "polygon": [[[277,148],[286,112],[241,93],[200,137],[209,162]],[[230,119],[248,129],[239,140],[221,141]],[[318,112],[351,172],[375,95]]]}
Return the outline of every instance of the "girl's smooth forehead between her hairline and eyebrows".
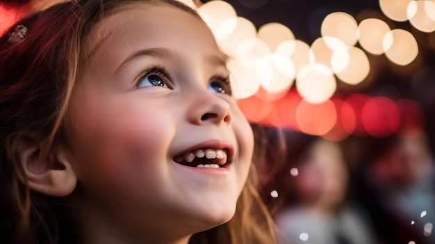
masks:
{"label": "girl's smooth forehead between her hairline and eyebrows", "polygon": [[195,13],[170,3],[129,3],[116,8],[92,29],[85,42],[84,54],[85,59],[88,59],[101,49],[110,49],[113,41],[182,37],[197,37],[202,42],[215,44],[208,26]]}

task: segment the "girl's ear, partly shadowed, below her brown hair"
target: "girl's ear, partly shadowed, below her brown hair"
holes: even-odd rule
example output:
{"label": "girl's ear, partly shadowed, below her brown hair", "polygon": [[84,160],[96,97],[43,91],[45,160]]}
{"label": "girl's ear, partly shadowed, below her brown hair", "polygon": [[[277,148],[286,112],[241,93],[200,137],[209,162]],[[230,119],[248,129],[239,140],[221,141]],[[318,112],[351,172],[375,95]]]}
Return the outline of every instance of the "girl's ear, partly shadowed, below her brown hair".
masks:
{"label": "girl's ear, partly shadowed, below her brown hair", "polygon": [[28,140],[19,140],[15,147],[29,188],[53,197],[71,194],[76,188],[77,178],[66,149],[58,147],[44,155],[41,147],[41,144],[29,143]]}

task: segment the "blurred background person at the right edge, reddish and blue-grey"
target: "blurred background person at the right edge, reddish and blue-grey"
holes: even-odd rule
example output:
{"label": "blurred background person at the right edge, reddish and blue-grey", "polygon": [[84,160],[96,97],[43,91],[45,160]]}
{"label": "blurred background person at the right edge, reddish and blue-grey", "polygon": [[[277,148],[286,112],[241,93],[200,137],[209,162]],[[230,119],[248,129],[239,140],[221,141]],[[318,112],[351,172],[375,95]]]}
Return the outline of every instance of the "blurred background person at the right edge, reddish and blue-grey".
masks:
{"label": "blurred background person at the right edge, reddish and blue-grey", "polygon": [[424,134],[371,138],[361,202],[382,243],[435,243],[434,158]]}

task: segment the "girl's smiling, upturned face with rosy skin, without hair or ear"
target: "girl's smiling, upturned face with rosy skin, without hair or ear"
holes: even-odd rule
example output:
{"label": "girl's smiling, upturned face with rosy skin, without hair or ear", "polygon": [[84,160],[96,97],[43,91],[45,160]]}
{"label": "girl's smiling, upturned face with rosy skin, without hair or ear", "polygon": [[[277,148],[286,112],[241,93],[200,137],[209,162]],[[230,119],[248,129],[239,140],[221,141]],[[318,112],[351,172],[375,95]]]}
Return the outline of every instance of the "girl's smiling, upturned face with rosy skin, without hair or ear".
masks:
{"label": "girl's smiling, upturned face with rosy skin, without hair or ear", "polygon": [[253,135],[204,22],[136,4],[97,25],[90,50],[66,120],[82,229],[153,243],[227,222]]}

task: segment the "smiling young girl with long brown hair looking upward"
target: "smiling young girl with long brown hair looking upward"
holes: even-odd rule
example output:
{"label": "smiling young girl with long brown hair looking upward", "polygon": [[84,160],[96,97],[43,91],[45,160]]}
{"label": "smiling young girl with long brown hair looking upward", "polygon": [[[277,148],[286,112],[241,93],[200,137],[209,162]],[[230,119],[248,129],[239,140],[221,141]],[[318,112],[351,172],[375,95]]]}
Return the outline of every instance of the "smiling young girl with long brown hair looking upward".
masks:
{"label": "smiling young girl with long brown hair looking upward", "polygon": [[60,3],[0,38],[0,67],[1,243],[276,242],[191,8]]}

